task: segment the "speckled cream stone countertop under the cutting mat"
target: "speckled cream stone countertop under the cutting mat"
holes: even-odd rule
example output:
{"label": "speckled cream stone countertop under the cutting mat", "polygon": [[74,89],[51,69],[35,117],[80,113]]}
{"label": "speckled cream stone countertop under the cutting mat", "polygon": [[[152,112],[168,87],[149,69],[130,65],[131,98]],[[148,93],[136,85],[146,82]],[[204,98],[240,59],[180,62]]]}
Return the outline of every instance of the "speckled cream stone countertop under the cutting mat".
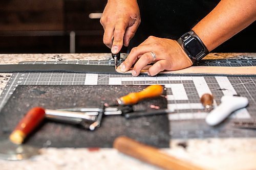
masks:
{"label": "speckled cream stone countertop under the cutting mat", "polygon": [[[126,56],[122,54],[122,57]],[[205,59],[256,59],[256,53],[211,53]],[[110,54],[0,54],[0,64],[20,61],[111,59]],[[0,73],[0,94],[11,74]],[[178,143],[186,142],[187,147]],[[207,169],[256,169],[256,138],[172,140],[170,155]],[[43,148],[40,155],[22,161],[0,160],[0,169],[158,169],[115,149]]]}

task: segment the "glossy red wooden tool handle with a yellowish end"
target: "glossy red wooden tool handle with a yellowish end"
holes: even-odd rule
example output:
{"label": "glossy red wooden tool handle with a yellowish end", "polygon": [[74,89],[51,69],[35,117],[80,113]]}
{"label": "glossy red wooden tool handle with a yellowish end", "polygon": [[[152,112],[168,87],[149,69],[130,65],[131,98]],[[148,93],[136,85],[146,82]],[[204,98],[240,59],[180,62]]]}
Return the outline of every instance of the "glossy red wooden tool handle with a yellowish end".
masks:
{"label": "glossy red wooden tool handle with a yellowish end", "polygon": [[21,144],[26,136],[44,119],[45,109],[34,107],[28,111],[18,123],[14,131],[9,136],[9,139],[16,144]]}

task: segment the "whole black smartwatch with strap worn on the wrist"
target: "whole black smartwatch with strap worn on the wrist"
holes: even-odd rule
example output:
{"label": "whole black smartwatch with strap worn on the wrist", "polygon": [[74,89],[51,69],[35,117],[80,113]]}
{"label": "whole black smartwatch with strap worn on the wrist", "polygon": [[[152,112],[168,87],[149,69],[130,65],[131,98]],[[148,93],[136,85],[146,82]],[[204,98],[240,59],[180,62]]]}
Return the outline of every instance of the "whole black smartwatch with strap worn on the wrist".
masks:
{"label": "whole black smartwatch with strap worn on the wrist", "polygon": [[203,41],[193,30],[182,35],[177,41],[193,63],[209,54]]}

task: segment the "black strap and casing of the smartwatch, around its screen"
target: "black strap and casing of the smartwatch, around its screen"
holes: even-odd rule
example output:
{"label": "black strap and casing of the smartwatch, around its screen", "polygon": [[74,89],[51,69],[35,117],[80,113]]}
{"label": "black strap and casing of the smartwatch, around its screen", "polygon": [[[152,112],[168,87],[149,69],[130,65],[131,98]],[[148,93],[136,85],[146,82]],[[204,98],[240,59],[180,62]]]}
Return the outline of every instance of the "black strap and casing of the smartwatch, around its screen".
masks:
{"label": "black strap and casing of the smartwatch, around its screen", "polygon": [[[202,45],[203,47],[203,51],[198,53],[197,56],[192,56],[191,54],[189,54],[187,52],[187,50],[185,50],[185,47],[184,47],[184,43],[186,41],[189,41],[189,39],[191,37],[194,37],[197,39],[197,41]],[[198,37],[198,35],[193,31],[193,30],[190,30],[189,32],[183,34],[178,40],[177,42],[180,44],[180,46],[183,48],[184,52],[188,55],[188,57],[191,59],[191,61],[193,63],[195,63],[196,61],[198,60],[201,60],[203,57],[205,57],[207,54],[209,54],[209,51],[207,49],[207,47],[204,45],[203,41]]]}

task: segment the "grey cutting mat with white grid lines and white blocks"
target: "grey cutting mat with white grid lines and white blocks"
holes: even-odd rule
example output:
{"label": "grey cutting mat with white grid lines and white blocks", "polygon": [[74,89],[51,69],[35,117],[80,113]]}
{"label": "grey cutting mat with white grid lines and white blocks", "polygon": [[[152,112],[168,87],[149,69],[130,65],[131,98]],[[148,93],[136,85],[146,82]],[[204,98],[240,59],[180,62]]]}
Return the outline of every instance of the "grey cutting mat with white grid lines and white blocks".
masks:
{"label": "grey cutting mat with white grid lines and white blocks", "polygon": [[[113,60],[94,61],[44,61],[21,62],[19,64],[91,64],[114,65]],[[204,66],[256,66],[256,59],[202,60]],[[163,84],[167,88],[168,108],[175,109],[169,114],[172,138],[205,137],[256,137],[256,131],[237,129],[231,126],[234,120],[256,119],[256,77],[225,76],[156,76],[69,74],[69,73],[16,73],[13,74],[0,96],[0,109],[10,98],[18,85],[145,85]],[[223,95],[239,94],[249,100],[249,106],[233,113],[225,123],[209,127],[205,123],[207,113],[200,103],[200,96],[212,93],[215,107]]]}

